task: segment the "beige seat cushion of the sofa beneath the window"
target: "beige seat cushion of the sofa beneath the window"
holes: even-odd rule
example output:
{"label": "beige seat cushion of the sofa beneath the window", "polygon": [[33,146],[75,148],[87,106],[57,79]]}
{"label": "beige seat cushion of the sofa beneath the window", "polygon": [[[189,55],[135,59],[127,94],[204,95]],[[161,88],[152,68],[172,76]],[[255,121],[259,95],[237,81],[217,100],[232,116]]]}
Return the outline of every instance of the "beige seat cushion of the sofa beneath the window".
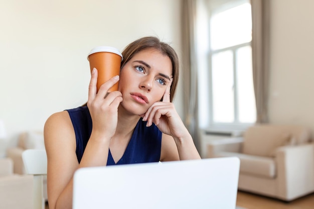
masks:
{"label": "beige seat cushion of the sofa beneath the window", "polygon": [[236,152],[218,152],[216,157],[239,157],[240,173],[261,176],[264,178],[276,177],[276,164],[272,157],[260,157]]}

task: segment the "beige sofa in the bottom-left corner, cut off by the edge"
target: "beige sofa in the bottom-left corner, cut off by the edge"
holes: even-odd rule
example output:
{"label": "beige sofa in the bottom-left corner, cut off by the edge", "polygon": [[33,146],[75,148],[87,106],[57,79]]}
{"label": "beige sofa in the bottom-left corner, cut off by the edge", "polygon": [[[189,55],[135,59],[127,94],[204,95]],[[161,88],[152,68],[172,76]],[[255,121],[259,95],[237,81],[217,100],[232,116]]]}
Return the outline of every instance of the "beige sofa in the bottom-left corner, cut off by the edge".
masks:
{"label": "beige sofa in the bottom-left corner, cut off by the edge", "polygon": [[0,208],[33,208],[33,176],[14,174],[10,158],[0,158],[0,199]]}

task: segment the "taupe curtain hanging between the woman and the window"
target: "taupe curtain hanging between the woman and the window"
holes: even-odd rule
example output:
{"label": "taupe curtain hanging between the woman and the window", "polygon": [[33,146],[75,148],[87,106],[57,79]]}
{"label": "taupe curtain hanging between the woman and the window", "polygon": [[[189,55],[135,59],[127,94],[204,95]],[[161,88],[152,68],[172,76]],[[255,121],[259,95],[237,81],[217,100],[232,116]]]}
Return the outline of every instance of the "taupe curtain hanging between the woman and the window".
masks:
{"label": "taupe curtain hanging between the woman and the window", "polygon": [[195,43],[197,0],[183,0],[181,7],[182,20],[182,73],[184,88],[185,125],[191,133],[197,149],[200,151],[198,134],[198,104],[197,104],[197,62]]}

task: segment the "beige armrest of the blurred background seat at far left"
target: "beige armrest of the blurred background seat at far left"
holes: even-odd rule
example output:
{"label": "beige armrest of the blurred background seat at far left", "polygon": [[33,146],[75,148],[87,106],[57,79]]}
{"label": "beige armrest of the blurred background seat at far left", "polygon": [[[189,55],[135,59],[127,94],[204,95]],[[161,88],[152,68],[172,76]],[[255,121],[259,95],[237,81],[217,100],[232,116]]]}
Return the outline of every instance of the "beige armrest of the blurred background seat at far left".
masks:
{"label": "beige armrest of the blurred background seat at far left", "polygon": [[12,147],[7,149],[7,156],[13,160],[14,173],[25,174],[22,153],[24,149],[20,147]]}

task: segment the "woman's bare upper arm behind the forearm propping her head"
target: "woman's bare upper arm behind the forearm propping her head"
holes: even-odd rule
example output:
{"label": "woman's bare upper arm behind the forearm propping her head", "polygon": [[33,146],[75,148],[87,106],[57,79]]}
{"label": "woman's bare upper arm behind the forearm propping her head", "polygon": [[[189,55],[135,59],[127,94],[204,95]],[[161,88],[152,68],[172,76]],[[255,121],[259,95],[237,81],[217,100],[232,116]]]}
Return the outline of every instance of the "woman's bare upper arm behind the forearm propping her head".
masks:
{"label": "woman's bare upper arm behind the forearm propping her head", "polygon": [[179,152],[175,140],[172,136],[164,134],[162,136],[161,161],[180,160]]}

